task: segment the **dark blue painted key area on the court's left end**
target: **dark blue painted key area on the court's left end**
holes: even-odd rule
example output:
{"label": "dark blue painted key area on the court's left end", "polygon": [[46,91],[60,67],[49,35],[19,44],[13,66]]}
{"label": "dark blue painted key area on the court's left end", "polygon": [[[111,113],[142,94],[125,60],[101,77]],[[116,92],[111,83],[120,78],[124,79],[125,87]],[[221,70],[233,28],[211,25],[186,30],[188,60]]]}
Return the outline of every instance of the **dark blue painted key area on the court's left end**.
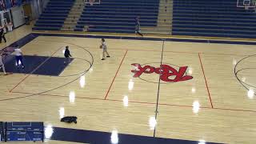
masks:
{"label": "dark blue painted key area on the court's left end", "polygon": [[[10,55],[4,60],[4,63],[8,73],[58,76],[68,66],[64,65],[64,60],[65,58],[24,55],[23,62],[25,68],[22,69],[15,65],[15,56]],[[73,58],[70,58],[70,62],[73,60]]]}

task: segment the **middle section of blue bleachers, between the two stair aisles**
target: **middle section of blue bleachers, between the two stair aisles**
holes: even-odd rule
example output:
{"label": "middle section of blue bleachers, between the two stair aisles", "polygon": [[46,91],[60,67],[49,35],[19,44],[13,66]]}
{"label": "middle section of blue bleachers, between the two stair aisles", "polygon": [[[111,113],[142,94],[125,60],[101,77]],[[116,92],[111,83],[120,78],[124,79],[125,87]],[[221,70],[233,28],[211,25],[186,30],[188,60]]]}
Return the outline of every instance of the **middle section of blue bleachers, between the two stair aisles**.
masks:
{"label": "middle section of blue bleachers, between the two stair aisles", "polygon": [[75,31],[134,33],[135,18],[141,26],[156,26],[159,0],[102,0],[100,4],[86,5]]}

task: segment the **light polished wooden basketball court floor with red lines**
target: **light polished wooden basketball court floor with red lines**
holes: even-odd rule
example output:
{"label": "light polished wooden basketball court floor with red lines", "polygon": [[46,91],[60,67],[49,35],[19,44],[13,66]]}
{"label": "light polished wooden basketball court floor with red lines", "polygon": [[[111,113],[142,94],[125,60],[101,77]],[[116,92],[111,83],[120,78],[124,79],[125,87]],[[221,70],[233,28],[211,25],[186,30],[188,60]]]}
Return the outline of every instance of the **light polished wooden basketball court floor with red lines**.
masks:
{"label": "light polished wooden basketball court floor with red lines", "polygon": [[[23,26],[7,40],[22,38],[19,34],[24,31],[30,33]],[[153,136],[150,123],[158,107],[156,137],[256,142],[256,100],[238,81],[249,84],[246,87],[254,92],[255,69],[248,68],[255,68],[256,56],[246,56],[256,54],[256,46],[126,39],[106,42],[111,57],[105,61],[101,60],[99,38],[39,36],[23,46],[26,55],[49,57],[63,57],[64,46],[70,46],[74,61],[59,77],[1,74],[0,120],[42,121],[46,126]],[[242,58],[246,59],[239,62]],[[93,66],[90,68],[85,60]],[[244,70],[237,78],[234,66],[238,62],[237,69]],[[175,70],[188,66],[186,75],[193,78],[160,80],[159,85],[155,72],[134,78],[133,63],[155,68],[162,63]],[[20,98],[24,96],[28,97]],[[5,100],[9,98],[14,99]],[[63,115],[76,115],[78,124],[59,122]]]}

